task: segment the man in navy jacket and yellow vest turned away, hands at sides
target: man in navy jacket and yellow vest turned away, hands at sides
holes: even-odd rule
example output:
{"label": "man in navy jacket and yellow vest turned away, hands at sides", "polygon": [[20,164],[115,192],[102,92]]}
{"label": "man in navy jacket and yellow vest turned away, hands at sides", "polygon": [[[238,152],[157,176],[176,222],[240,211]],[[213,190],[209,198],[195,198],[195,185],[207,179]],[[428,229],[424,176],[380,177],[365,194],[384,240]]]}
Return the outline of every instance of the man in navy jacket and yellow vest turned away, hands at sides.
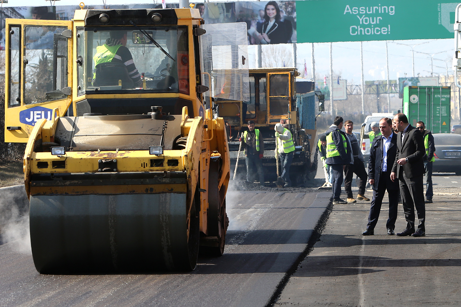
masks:
{"label": "man in navy jacket and yellow vest turned away, hands at sides", "polygon": [[333,168],[333,204],[347,203],[341,196],[343,184],[343,169],[351,161],[351,149],[346,141],[346,133],[343,128],[343,117],[336,116],[334,124],[326,131],[326,164]]}

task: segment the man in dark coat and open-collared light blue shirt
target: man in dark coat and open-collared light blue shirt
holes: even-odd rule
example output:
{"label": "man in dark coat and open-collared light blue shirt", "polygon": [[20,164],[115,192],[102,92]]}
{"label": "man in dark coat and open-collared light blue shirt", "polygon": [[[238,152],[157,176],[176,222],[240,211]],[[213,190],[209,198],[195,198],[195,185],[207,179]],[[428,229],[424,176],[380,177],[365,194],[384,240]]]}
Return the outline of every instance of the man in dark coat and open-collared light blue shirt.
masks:
{"label": "man in dark coat and open-collared light blue shirt", "polygon": [[389,218],[387,219],[387,234],[395,234],[397,220],[398,182],[390,180],[390,171],[394,166],[397,154],[397,134],[392,132],[392,120],[384,117],[379,121],[379,130],[382,135],[373,139],[370,147],[370,161],[368,162],[368,182],[373,186],[373,199],[368,215],[364,236],[374,235],[374,227],[378,222],[379,211],[383,203],[384,193],[389,196]]}

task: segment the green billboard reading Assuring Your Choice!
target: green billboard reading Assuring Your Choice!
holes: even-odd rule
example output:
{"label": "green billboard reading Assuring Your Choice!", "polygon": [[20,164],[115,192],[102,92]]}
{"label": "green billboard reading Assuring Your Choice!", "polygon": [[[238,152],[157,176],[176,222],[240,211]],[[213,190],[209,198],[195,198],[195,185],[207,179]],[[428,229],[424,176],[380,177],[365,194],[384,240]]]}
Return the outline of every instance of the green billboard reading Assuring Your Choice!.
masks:
{"label": "green billboard reading Assuring Your Choice!", "polygon": [[[436,0],[296,1],[297,42],[453,38],[455,3]],[[315,29],[315,31],[300,29]]]}

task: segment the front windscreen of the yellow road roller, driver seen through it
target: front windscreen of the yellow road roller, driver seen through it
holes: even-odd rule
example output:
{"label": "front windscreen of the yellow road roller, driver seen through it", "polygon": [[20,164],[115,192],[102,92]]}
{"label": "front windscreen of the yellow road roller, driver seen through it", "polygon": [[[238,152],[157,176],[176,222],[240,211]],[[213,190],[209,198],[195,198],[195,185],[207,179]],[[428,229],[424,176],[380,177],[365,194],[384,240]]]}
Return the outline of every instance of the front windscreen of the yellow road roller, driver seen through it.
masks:
{"label": "front windscreen of the yellow road roller, driver seen through it", "polygon": [[79,33],[79,94],[189,94],[187,27],[87,27]]}

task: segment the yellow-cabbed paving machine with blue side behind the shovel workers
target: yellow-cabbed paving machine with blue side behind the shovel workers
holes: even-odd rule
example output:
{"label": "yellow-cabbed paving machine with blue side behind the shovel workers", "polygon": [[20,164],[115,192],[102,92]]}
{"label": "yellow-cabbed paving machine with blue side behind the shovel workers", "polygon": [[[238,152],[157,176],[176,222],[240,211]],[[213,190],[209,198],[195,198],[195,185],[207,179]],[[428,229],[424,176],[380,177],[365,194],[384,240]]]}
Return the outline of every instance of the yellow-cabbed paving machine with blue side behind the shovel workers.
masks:
{"label": "yellow-cabbed paving machine with blue side behind the shovel workers", "polygon": [[[249,70],[250,95],[248,100],[218,98],[216,114],[223,117],[229,132],[231,173],[236,178],[246,177],[245,157],[239,152],[239,138],[247,130],[247,122],[255,122],[264,139],[263,167],[266,181],[277,180],[274,126],[284,122],[296,146],[290,168],[290,179],[295,185],[306,185],[315,177],[315,97],[312,84],[307,93],[296,93],[295,68],[260,68]],[[237,164],[237,156],[239,156]],[[237,168],[235,165],[237,164]],[[233,175],[232,175],[233,177]]]}

